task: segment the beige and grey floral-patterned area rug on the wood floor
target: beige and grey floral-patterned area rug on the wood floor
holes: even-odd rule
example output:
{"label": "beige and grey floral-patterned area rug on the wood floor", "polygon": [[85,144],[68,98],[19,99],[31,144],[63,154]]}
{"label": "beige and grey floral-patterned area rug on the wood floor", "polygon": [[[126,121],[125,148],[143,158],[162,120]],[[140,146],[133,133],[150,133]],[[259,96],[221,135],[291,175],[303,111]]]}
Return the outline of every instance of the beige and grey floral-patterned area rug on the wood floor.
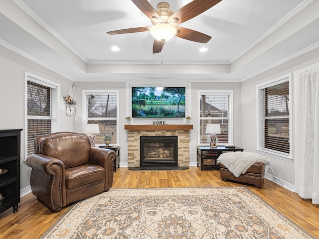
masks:
{"label": "beige and grey floral-patterned area rug on the wood floor", "polygon": [[314,239],[245,187],[110,189],[41,239]]}

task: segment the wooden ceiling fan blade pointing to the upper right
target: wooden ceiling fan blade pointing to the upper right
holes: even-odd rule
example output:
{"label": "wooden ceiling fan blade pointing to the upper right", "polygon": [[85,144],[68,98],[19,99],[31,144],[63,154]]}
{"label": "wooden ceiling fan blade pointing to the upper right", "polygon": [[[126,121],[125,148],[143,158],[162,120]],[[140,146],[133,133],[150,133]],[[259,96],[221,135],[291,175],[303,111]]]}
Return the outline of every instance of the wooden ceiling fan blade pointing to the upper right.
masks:
{"label": "wooden ceiling fan blade pointing to the upper right", "polygon": [[193,0],[174,12],[168,18],[168,22],[173,18],[177,18],[178,22],[176,24],[178,25],[208,10],[220,1],[221,0]]}

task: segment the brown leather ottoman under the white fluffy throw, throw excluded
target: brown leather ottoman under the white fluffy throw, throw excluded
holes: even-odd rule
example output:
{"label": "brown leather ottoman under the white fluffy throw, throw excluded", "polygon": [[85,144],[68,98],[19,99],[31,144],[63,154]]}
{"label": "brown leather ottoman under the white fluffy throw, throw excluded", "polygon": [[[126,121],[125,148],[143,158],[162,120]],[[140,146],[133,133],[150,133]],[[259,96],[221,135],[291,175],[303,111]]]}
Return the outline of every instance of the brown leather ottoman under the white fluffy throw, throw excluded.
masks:
{"label": "brown leather ottoman under the white fluffy throw, throw excluded", "polygon": [[264,163],[254,163],[250,166],[244,174],[241,174],[238,178],[234,176],[232,172],[228,170],[222,163],[220,165],[220,178],[223,181],[231,180],[241,183],[252,184],[256,188],[261,188],[264,177],[265,177],[265,168]]}

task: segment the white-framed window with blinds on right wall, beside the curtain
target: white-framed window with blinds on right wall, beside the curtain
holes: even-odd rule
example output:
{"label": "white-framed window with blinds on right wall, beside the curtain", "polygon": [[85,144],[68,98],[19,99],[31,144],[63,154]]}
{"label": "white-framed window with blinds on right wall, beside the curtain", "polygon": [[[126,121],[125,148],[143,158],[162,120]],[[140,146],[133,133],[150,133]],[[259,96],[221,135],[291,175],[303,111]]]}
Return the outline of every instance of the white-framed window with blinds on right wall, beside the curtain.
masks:
{"label": "white-framed window with blinds on right wall, beside the curtain", "polygon": [[290,79],[287,75],[257,86],[258,150],[290,157]]}

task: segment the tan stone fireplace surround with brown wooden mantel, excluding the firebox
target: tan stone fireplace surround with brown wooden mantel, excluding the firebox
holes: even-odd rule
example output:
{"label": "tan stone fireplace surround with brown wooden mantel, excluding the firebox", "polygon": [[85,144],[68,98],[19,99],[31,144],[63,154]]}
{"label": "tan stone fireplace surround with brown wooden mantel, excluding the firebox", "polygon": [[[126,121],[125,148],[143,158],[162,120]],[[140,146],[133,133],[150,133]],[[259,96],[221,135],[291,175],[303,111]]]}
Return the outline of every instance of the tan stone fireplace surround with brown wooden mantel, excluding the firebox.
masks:
{"label": "tan stone fireplace surround with brown wooden mantel, excluding the firebox", "polygon": [[126,124],[125,129],[128,130],[128,167],[141,167],[141,136],[176,136],[177,167],[189,167],[189,130],[192,128],[191,124]]}

